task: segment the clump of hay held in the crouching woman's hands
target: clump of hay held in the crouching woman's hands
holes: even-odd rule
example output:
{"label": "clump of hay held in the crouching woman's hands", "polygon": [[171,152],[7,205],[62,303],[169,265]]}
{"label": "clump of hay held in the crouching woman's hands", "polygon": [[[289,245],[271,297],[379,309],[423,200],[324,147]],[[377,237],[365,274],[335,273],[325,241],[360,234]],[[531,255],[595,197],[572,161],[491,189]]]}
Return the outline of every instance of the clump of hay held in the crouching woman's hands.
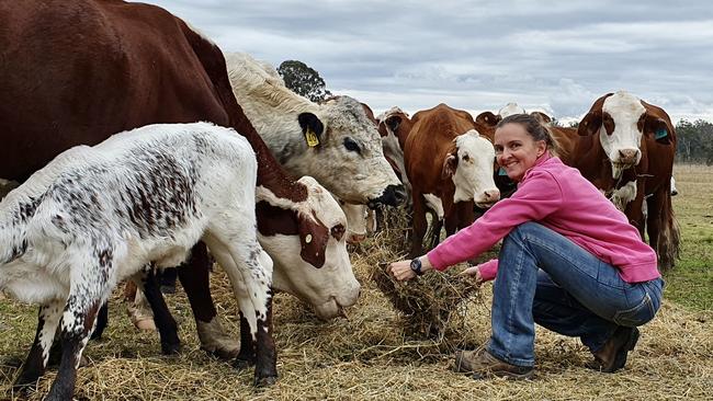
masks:
{"label": "clump of hay held in the crouching woman's hands", "polygon": [[[388,274],[387,263],[373,268],[372,279],[394,308],[404,314],[408,335],[439,342],[445,340],[453,329],[463,326],[465,308],[462,302],[477,294],[474,282],[450,272],[426,274],[399,283]],[[454,340],[457,342],[457,335]]]}

